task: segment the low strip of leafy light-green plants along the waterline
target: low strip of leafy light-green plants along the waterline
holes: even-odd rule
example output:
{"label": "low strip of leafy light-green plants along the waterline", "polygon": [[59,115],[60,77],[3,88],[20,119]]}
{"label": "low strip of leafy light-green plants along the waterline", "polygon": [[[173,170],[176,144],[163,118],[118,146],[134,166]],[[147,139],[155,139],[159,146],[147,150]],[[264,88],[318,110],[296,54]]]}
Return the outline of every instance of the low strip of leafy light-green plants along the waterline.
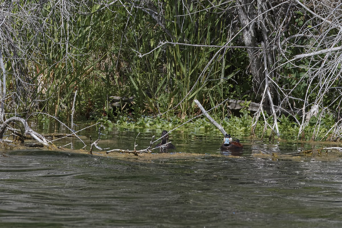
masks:
{"label": "low strip of leafy light-green plants along the waterline", "polygon": [[[253,117],[245,112],[240,116],[232,115],[229,118],[224,119],[214,117],[214,119],[216,122],[220,123],[224,129],[229,129],[229,132],[234,132],[235,135],[249,136]],[[211,124],[210,121],[208,121],[204,116],[192,119],[191,121],[189,120],[191,120],[191,118],[181,119],[177,116],[169,119],[163,119],[160,117],[140,117],[136,120],[129,117],[119,117],[114,125],[118,128],[150,128],[172,130],[185,123],[184,125],[180,126],[179,129],[192,129],[194,131],[205,132],[218,131],[215,126]],[[325,115],[321,118],[321,124],[319,128],[317,126],[317,122],[313,120],[305,128],[304,134],[308,135],[305,137],[305,139],[308,140],[308,137],[311,137],[310,133],[314,131],[316,131],[317,138],[324,138],[327,130],[331,128],[331,125],[333,124],[334,120],[330,115]],[[286,138],[287,135],[295,135],[298,133],[299,124],[296,123],[291,117],[282,115],[279,118],[278,125],[279,131],[281,132],[280,138]],[[261,137],[264,127],[265,126],[262,123],[257,124],[256,132],[258,137]],[[266,135],[270,135],[271,132],[272,129],[268,128],[266,130]]]}

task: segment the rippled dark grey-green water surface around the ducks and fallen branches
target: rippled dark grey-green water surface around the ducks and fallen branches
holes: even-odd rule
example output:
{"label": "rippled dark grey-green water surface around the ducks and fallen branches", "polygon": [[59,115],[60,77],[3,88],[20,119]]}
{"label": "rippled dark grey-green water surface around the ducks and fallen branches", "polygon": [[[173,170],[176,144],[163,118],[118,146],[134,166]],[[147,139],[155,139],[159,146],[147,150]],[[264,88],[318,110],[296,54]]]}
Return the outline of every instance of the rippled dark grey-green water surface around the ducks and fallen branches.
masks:
{"label": "rippled dark grey-green water surface around the ducks and fallen branches", "polygon": [[[99,146],[111,149],[132,149],[137,135],[103,133]],[[144,130],[137,149],[160,133]],[[97,137],[95,129],[84,134]],[[340,159],[251,158],[252,152],[312,146],[243,137],[242,158],[205,157],[220,153],[219,133],[174,132],[170,139],[173,152],[203,158],[143,162],[39,149],[5,152],[0,227],[342,227]],[[70,142],[83,145],[74,139],[60,144]]]}

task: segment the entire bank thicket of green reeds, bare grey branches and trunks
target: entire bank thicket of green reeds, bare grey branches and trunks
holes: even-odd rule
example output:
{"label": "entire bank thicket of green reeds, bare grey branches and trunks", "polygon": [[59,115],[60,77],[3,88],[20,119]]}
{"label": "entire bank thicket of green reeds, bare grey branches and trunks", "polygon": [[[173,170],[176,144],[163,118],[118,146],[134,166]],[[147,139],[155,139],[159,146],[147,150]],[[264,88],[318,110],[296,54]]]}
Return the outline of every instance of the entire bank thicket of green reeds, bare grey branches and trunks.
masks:
{"label": "entire bank thicket of green reeds, bare grey branches and trunks", "polygon": [[341,138],[339,1],[0,4],[3,118],[69,118],[76,91],[78,119],[111,121],[187,120],[194,99],[225,120],[226,99],[237,99],[252,135],[258,124],[279,134],[286,119],[298,135],[311,125],[313,139],[322,128]]}

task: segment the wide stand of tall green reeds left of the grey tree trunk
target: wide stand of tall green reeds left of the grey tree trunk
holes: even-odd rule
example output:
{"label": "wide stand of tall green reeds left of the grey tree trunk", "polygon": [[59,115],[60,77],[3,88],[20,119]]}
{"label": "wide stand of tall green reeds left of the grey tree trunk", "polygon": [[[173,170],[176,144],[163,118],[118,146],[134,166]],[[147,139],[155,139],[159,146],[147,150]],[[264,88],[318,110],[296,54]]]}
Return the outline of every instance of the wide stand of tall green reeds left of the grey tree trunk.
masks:
{"label": "wide stand of tall green reeds left of the grey tree trunk", "polygon": [[[227,72],[232,75],[230,56],[219,54],[208,66],[219,48],[195,46],[225,44],[231,31],[228,17],[218,19],[224,15],[222,9],[209,2],[151,3],[159,7],[169,34],[146,12],[123,5],[50,0],[41,8],[29,9],[24,2],[13,6],[13,12],[25,9],[28,15],[30,10],[37,15],[22,30],[27,49],[19,54],[28,61],[18,56],[30,75],[24,105],[30,106],[28,112],[38,109],[68,118],[75,90],[76,111],[87,117],[113,112],[108,96],[134,96],[134,104],[123,106],[135,114],[168,111],[166,116],[182,118],[197,111],[194,99],[205,107],[226,99],[231,92],[225,83]],[[24,19],[13,21],[25,25]],[[152,51],[160,41],[176,44],[142,58],[137,55]],[[11,68],[10,62],[6,67]]]}

